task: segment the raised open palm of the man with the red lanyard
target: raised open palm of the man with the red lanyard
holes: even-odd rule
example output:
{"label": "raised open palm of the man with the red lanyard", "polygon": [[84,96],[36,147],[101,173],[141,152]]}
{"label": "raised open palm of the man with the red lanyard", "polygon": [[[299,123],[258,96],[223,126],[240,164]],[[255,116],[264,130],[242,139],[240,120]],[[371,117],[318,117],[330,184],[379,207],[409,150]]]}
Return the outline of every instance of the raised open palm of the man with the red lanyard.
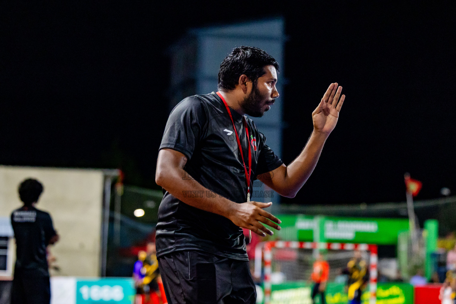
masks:
{"label": "raised open palm of the man with the red lanyard", "polygon": [[337,88],[337,82],[329,85],[320,104],[312,112],[313,125],[316,131],[330,134],[336,127],[339,112],[345,99],[345,95],[340,96],[341,92],[342,87]]}

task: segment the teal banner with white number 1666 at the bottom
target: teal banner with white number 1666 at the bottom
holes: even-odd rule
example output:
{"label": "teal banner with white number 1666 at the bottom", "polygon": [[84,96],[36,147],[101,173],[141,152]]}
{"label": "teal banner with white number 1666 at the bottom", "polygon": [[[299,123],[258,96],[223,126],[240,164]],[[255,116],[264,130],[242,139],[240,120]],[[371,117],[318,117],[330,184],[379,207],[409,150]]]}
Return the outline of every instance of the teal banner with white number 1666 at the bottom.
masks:
{"label": "teal banner with white number 1666 at the bottom", "polygon": [[131,304],[135,289],[131,278],[76,281],[76,304]]}

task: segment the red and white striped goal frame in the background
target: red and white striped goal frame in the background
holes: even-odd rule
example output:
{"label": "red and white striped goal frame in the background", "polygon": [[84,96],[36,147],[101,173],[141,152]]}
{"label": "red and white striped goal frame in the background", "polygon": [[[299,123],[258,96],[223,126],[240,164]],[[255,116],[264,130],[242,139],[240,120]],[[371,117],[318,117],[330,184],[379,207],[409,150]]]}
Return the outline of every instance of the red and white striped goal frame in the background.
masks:
{"label": "red and white striped goal frame in the background", "polygon": [[255,262],[261,263],[261,249],[264,257],[264,304],[270,304],[271,298],[271,262],[273,248],[296,248],[296,249],[322,249],[322,250],[360,250],[369,251],[369,304],[375,304],[377,300],[377,245],[375,244],[353,244],[353,243],[327,243],[327,242],[286,242],[269,241],[257,245]]}

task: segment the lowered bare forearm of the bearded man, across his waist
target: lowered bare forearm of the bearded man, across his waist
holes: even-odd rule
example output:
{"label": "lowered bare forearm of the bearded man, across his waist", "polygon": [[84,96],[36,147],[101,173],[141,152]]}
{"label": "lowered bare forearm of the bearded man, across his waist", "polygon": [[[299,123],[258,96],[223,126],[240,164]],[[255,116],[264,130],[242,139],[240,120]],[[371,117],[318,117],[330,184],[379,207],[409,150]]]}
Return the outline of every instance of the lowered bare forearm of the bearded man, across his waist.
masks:
{"label": "lowered bare forearm of the bearded man, across his waist", "polygon": [[183,169],[166,171],[157,179],[157,184],[174,197],[192,207],[229,218],[232,201],[219,195],[213,197],[214,192],[203,187]]}

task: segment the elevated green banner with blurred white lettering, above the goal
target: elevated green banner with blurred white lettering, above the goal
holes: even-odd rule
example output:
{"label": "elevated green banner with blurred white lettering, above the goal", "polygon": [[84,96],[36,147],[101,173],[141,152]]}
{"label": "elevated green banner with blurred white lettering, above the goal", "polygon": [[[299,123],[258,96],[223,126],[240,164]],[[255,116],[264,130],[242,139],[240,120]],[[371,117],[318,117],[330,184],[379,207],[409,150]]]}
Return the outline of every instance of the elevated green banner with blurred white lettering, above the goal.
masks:
{"label": "elevated green banner with blurred white lettering, above the goal", "polygon": [[[350,242],[393,245],[398,233],[409,229],[407,219],[279,215],[276,237],[287,241]],[[320,230],[323,229],[323,232]],[[319,240],[314,240],[318,231]]]}

